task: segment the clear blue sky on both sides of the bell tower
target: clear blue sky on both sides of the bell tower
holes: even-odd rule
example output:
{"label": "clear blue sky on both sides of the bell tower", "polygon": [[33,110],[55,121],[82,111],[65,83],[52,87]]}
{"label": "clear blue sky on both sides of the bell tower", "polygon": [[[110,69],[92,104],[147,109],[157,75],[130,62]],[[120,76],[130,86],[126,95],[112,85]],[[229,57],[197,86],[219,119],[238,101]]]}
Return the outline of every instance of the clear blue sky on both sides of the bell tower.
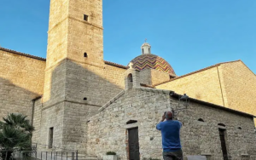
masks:
{"label": "clear blue sky on both sides of the bell tower", "polygon": [[[1,0],[0,46],[46,56],[49,0]],[[103,0],[104,60],[127,65],[144,39],[178,76],[242,60],[256,73],[255,0]]]}

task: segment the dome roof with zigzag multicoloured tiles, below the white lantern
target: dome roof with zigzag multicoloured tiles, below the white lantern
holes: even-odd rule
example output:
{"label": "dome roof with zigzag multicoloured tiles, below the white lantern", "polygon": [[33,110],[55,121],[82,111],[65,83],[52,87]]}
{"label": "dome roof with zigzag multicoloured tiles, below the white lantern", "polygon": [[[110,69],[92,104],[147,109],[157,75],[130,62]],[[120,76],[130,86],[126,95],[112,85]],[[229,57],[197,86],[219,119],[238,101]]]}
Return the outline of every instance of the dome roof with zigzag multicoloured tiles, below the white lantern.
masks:
{"label": "dome roof with zigzag multicoloured tiles, below the white lantern", "polygon": [[135,59],[131,60],[133,68],[139,71],[143,69],[155,69],[159,71],[165,71],[171,75],[176,75],[172,69],[172,66],[160,56],[154,54],[142,54],[137,56]]}

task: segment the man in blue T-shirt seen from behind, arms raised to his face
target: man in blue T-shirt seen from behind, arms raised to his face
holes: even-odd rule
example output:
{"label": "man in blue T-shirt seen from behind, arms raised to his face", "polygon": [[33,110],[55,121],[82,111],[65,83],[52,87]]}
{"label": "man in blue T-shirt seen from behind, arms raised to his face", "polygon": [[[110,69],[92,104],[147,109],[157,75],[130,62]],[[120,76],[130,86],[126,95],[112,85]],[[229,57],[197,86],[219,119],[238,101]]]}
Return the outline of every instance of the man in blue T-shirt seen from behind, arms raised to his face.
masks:
{"label": "man in blue T-shirt seen from behind, arms raised to his face", "polygon": [[172,120],[171,111],[166,111],[161,122],[156,125],[156,129],[160,130],[162,134],[164,160],[183,160],[179,136],[181,127],[182,123]]}

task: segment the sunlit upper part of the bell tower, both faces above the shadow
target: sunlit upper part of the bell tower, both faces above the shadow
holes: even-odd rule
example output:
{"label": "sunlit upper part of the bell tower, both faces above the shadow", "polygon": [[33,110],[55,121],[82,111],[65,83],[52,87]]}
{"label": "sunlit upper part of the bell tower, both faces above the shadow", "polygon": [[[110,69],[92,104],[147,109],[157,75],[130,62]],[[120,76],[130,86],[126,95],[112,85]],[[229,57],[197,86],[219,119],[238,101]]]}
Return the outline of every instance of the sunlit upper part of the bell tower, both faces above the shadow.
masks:
{"label": "sunlit upper part of the bell tower, both faces above the shadow", "polygon": [[102,0],[51,0],[47,68],[63,59],[103,62]]}

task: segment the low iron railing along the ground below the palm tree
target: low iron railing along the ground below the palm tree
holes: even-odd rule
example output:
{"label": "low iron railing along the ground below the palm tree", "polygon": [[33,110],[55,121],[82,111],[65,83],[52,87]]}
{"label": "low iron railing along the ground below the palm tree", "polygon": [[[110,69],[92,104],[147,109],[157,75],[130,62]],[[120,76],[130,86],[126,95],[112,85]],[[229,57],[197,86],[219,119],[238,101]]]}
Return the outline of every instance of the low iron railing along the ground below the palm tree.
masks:
{"label": "low iron railing along the ground below the palm tree", "polygon": [[0,160],[78,160],[78,151],[7,151],[0,150]]}

